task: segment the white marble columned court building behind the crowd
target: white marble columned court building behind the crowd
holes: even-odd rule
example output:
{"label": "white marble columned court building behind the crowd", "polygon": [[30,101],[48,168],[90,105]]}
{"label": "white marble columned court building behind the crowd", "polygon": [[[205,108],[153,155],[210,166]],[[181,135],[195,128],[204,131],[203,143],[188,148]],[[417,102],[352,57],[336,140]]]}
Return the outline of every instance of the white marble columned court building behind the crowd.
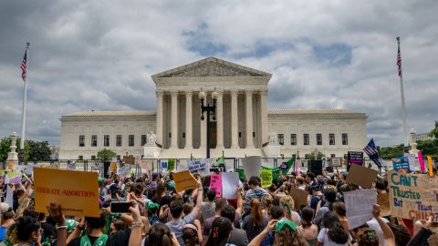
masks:
{"label": "white marble columned court building behind the crowd", "polygon": [[[62,116],[59,159],[94,159],[100,149],[145,158],[205,157],[199,94],[213,105],[211,156],[277,157],[321,151],[343,157],[366,145],[366,115],[346,109],[268,109],[271,74],[208,57],[152,76],[156,111],[83,111]],[[285,87],[285,90],[288,88]]]}

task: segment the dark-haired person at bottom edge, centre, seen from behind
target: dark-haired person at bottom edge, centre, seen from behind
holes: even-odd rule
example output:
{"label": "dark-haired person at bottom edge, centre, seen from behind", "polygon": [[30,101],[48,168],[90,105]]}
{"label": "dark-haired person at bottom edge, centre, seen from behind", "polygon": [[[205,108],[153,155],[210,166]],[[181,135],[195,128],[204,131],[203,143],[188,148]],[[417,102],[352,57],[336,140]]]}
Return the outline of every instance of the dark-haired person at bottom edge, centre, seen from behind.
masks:
{"label": "dark-haired person at bottom edge, centre, seen from behind", "polygon": [[217,217],[212,224],[212,231],[208,236],[205,246],[235,245],[228,243],[230,232],[233,230],[231,220],[224,217]]}

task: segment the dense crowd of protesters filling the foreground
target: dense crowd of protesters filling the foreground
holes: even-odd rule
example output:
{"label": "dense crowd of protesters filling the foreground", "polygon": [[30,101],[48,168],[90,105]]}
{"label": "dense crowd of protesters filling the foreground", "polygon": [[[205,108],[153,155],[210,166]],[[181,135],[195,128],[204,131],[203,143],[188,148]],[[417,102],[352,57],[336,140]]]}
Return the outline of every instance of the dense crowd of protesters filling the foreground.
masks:
{"label": "dense crowd of protesters filling the foreground", "polygon": [[[360,187],[345,181],[346,172],[280,176],[271,187],[259,177],[236,187],[236,200],[209,190],[210,177],[199,177],[193,190],[177,192],[172,172],[141,178],[99,178],[100,216],[75,218],[58,204],[36,212],[29,180],[11,185],[12,206],[1,203],[1,245],[438,245],[437,225],[429,220],[382,218],[370,204],[372,218],[349,229],[343,192]],[[0,185],[5,190],[4,179]],[[307,190],[307,206],[297,209],[291,188]],[[376,193],[388,191],[385,177]],[[130,212],[111,212],[111,202],[130,201]]]}

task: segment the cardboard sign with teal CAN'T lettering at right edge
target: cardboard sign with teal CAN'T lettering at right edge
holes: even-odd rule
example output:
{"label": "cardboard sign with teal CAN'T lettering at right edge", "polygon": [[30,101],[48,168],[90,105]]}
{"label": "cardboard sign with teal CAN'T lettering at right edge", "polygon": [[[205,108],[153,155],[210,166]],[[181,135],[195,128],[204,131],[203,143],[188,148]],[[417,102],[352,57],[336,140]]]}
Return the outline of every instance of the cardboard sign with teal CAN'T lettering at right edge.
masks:
{"label": "cardboard sign with teal CAN'T lettering at right edge", "polygon": [[410,220],[428,220],[433,215],[438,221],[438,178],[426,174],[409,174],[390,171],[391,215]]}

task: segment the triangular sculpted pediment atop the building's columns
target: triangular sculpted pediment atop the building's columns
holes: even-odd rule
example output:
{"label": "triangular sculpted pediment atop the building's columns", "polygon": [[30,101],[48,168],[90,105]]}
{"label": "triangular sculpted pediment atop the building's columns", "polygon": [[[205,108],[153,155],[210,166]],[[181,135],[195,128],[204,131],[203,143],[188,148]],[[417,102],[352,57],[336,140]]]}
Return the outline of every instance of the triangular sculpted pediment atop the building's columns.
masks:
{"label": "triangular sculpted pediment atop the building's columns", "polygon": [[272,75],[215,57],[208,57],[191,64],[176,67],[153,75],[157,77],[271,77]]}

